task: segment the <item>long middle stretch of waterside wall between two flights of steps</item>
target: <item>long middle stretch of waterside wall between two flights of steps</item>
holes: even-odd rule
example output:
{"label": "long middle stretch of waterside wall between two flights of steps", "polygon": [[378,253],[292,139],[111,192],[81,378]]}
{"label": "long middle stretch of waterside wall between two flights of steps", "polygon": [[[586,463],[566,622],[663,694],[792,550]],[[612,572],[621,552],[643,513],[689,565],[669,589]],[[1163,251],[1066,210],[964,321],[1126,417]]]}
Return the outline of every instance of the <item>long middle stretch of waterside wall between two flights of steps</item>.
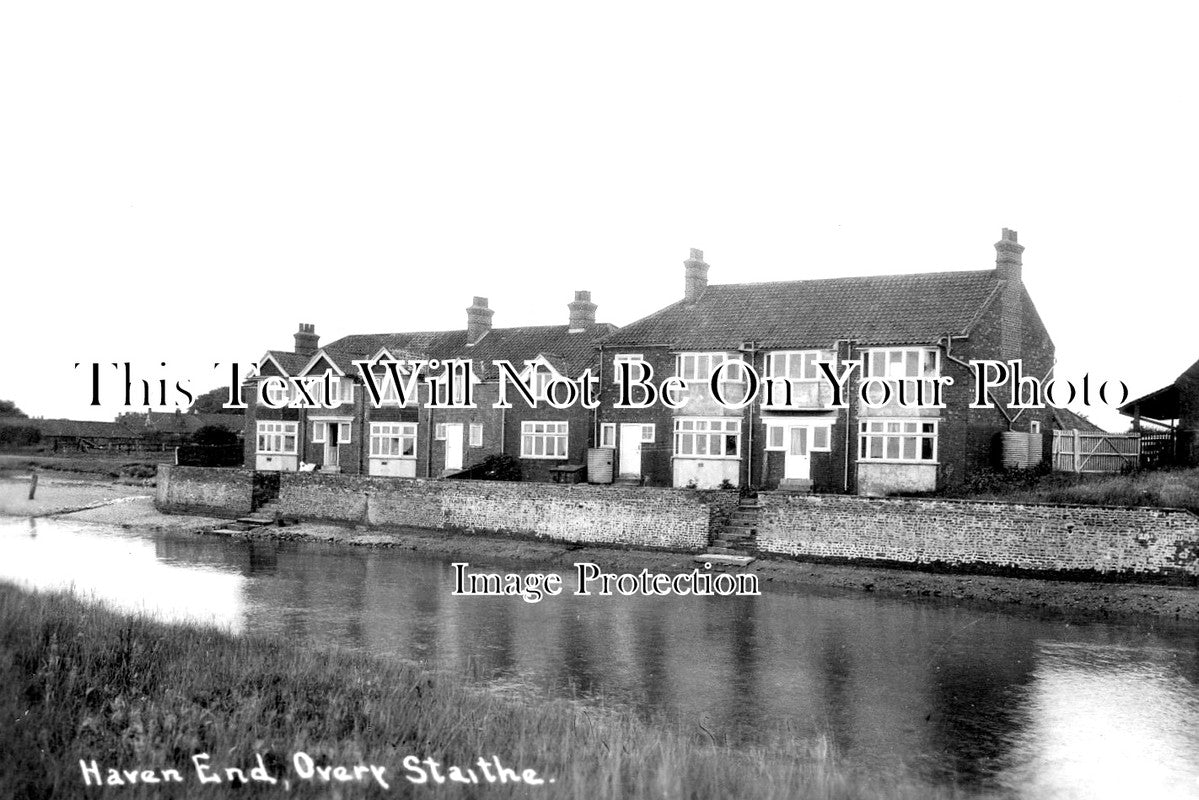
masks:
{"label": "long middle stretch of waterside wall between two flights of steps", "polygon": [[372,525],[480,530],[566,542],[698,551],[710,506],[697,494],[646,487],[426,481],[319,473],[281,476],[287,516]]}

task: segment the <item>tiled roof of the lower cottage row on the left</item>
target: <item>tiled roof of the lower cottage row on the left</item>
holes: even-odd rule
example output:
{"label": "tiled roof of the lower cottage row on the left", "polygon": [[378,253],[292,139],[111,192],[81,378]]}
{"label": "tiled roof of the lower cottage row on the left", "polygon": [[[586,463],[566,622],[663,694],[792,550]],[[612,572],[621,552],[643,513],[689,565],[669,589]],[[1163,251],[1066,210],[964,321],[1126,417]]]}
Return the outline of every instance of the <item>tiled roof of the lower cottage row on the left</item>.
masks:
{"label": "tiled roof of the lower cottage row on the left", "polygon": [[[355,333],[325,347],[338,361],[367,359],[386,347],[397,357],[404,353],[428,359],[471,359],[475,374],[484,380],[494,377],[493,361],[506,360],[522,366],[525,361],[547,355],[555,368],[570,377],[583,372],[595,361],[595,344],[616,330],[598,323],[577,333],[567,325],[526,327],[493,327],[474,345],[466,345],[466,331],[422,331],[415,333]],[[356,371],[355,371],[356,373]]]}

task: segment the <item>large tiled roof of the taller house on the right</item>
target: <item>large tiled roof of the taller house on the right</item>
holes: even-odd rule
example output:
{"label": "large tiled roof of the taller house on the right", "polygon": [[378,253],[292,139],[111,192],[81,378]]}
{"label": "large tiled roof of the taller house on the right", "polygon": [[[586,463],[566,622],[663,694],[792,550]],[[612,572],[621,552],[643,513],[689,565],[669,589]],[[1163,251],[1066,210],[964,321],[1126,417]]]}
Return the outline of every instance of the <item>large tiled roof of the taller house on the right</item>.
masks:
{"label": "large tiled roof of the taller house on the right", "polygon": [[932,343],[965,333],[999,289],[994,270],[712,284],[617,330],[611,345],[731,349]]}

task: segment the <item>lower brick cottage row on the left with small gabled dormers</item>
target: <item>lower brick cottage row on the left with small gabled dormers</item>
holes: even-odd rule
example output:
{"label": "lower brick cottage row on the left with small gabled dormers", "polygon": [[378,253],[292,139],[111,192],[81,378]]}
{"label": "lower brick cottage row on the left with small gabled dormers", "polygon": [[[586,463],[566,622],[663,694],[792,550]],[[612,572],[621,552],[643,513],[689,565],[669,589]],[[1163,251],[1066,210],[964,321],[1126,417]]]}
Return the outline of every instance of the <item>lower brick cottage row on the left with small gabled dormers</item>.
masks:
{"label": "lower brick cottage row on the left with small gabled dormers", "polygon": [[[615,330],[596,323],[589,291],[568,303],[566,325],[492,327],[486,297],[466,309],[466,327],[452,331],[356,333],[319,347],[312,325],[301,325],[293,351],[270,350],[258,378],[245,389],[246,465],[264,470],[318,469],[357,475],[436,477],[469,469],[494,453],[520,459],[525,480],[549,480],[550,470],[585,463],[595,420],[582,405],[536,409],[510,393],[511,409],[495,409],[495,360],[522,367],[538,393],[561,374],[574,378],[596,366],[596,342]],[[375,408],[354,366],[357,360],[470,359],[477,378],[474,409],[429,409],[421,393],[404,407],[391,387]],[[330,372],[333,409],[271,409],[255,402],[257,383],[271,375],[317,379]],[[381,369],[378,374],[382,374]],[[273,391],[273,390],[272,390]]]}

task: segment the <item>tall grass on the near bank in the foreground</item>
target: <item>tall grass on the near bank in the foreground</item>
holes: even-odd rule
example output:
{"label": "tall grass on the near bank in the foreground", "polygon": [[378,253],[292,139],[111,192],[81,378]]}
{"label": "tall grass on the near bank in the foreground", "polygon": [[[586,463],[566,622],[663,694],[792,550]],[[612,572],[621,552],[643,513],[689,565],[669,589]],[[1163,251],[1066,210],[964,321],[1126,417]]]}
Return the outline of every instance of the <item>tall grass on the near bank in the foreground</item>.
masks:
{"label": "tall grass on the near bank in the foreground", "polygon": [[[66,595],[0,584],[0,798],[928,798],[868,781],[821,742],[719,747],[631,714],[518,700],[398,662],[313,650],[116,614]],[[386,765],[381,788],[200,786],[191,757],[252,768],[305,751],[332,764]],[[499,756],[553,784],[412,786],[408,754],[471,764]],[[186,783],[84,789],[102,769],[175,768]],[[275,766],[272,766],[275,769]]]}

